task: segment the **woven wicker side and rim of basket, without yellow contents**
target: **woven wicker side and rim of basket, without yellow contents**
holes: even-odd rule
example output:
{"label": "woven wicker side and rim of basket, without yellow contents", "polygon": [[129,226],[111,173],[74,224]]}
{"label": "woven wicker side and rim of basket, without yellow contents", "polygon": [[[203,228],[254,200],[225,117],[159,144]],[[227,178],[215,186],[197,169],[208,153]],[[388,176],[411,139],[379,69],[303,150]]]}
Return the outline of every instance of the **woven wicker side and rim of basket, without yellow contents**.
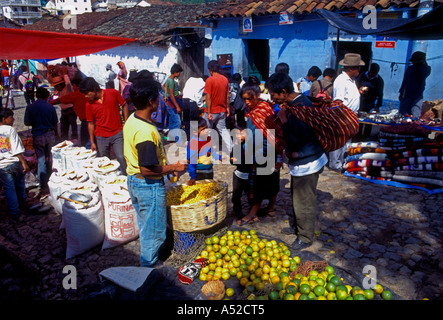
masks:
{"label": "woven wicker side and rim of basket, without yellow contents", "polygon": [[[215,180],[199,180],[195,183],[214,183],[221,191],[211,198],[192,204],[168,206],[168,226],[174,231],[193,232],[206,230],[226,218],[228,185]],[[172,187],[173,188],[179,188]]]}

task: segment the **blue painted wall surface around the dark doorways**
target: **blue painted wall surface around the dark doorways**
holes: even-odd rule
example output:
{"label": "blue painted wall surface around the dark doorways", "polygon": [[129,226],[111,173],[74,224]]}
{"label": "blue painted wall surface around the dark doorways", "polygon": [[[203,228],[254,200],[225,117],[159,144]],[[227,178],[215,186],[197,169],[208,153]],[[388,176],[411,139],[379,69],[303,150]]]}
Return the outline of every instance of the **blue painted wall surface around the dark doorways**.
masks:
{"label": "blue painted wall surface around the dark doorways", "polygon": [[[328,24],[314,15],[296,18],[291,25],[279,25],[278,16],[253,17],[253,32],[242,34],[241,18],[218,20],[213,30],[212,55],[233,54],[234,73],[247,77],[247,58],[244,39],[268,39],[270,50],[269,70],[286,62],[290,76],[305,76],[308,69],[317,65],[320,69],[335,66],[334,37],[328,38]],[[355,39],[354,39],[355,40]],[[410,57],[412,42],[396,41],[394,49],[375,48],[375,36],[361,36],[356,42],[371,43],[372,62],[380,65],[380,75],[385,81],[385,99],[397,100],[404,72]],[[340,42],[347,41],[341,38]],[[425,100],[442,99],[443,86],[443,40],[427,41],[428,64],[432,73],[426,82]]]}

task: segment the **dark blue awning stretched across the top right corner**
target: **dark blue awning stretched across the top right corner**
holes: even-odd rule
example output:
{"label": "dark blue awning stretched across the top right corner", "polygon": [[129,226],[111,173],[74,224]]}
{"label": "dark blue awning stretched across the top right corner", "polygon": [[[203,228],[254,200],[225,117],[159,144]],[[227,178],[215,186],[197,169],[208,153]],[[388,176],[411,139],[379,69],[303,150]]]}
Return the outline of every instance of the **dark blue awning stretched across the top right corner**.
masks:
{"label": "dark blue awning stretched across the top right corner", "polygon": [[348,33],[378,35],[398,40],[438,40],[443,39],[443,5],[421,17],[412,19],[377,19],[376,29],[363,26],[363,19],[344,17],[325,9],[315,11],[331,26]]}

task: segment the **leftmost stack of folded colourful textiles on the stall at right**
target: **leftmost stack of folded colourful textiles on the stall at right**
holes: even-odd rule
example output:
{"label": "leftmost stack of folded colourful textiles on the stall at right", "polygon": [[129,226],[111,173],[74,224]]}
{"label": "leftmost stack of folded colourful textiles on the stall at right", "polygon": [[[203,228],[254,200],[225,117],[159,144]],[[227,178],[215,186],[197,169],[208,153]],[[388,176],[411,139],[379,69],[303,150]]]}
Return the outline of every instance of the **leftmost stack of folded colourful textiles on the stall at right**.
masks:
{"label": "leftmost stack of folded colourful textiles on the stall at right", "polygon": [[373,180],[389,180],[393,169],[388,154],[391,150],[377,141],[351,143],[343,167],[350,174]]}

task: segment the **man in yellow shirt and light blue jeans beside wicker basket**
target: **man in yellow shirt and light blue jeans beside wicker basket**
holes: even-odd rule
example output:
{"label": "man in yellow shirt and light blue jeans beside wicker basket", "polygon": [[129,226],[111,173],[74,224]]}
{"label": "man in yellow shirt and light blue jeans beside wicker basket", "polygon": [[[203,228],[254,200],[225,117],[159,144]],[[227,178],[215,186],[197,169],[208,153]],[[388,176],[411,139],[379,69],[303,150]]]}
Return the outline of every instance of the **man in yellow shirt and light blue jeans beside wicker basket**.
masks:
{"label": "man in yellow shirt and light blue jeans beside wicker basket", "polygon": [[158,109],[159,89],[160,84],[154,79],[136,80],[131,85],[129,95],[136,110],[123,127],[128,190],[137,211],[142,267],[155,267],[166,240],[163,176],[178,175],[187,167],[183,163],[166,164],[163,142],[151,118]]}

